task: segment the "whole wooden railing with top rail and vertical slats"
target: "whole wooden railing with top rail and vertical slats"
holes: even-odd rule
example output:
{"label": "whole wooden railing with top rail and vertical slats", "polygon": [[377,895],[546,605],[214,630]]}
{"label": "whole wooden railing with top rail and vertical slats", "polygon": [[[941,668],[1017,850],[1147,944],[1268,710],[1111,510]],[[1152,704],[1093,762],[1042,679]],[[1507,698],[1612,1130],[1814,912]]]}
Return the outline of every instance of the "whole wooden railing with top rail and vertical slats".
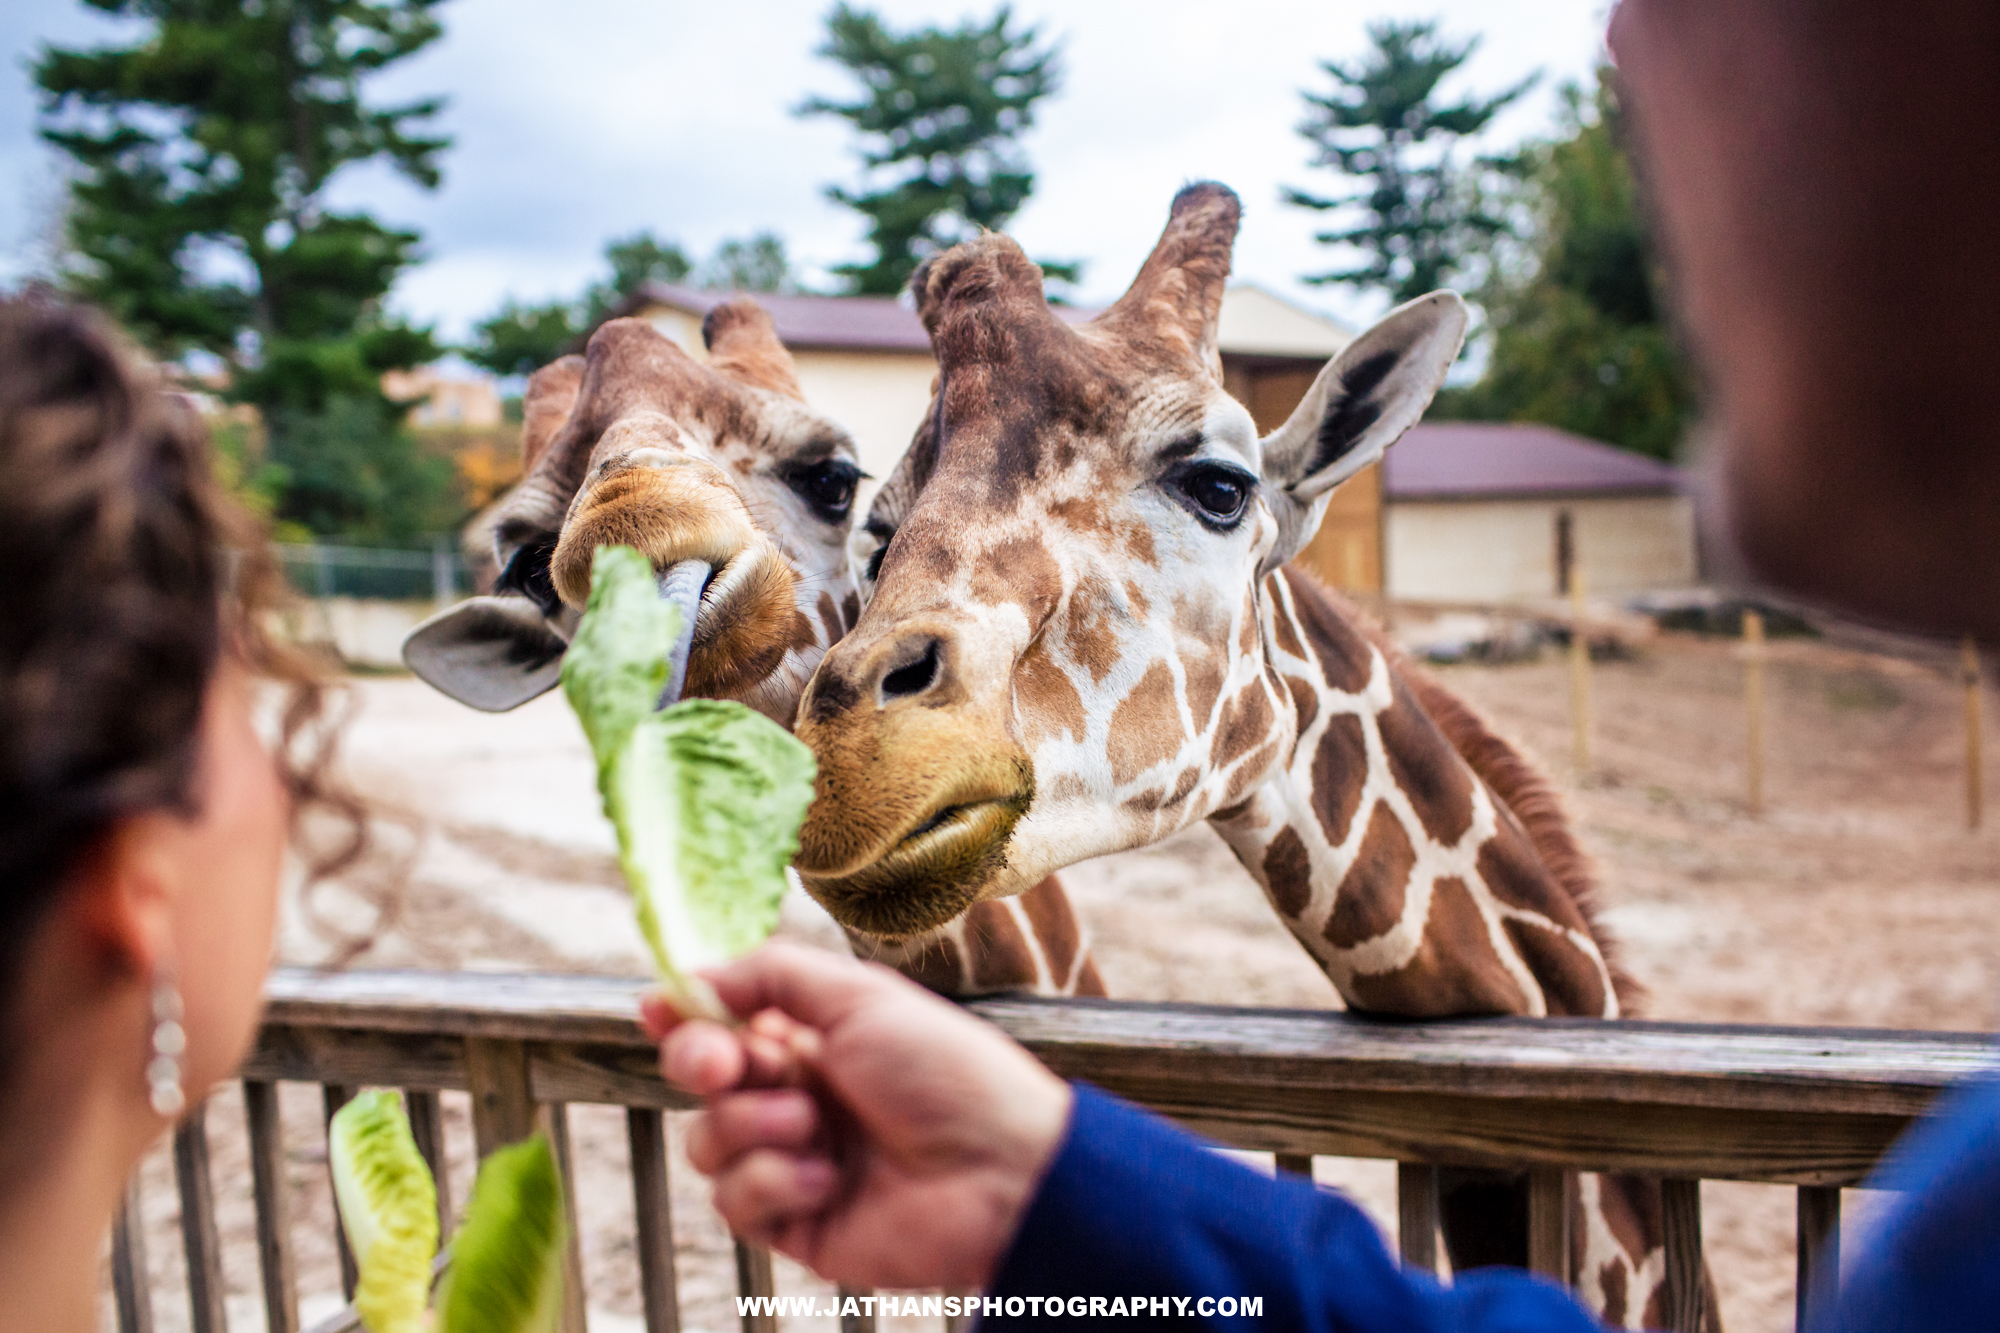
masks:
{"label": "whole wooden railing with top rail and vertical slats", "polygon": [[[634,1013],[644,983],[580,977],[278,971],[244,1109],[268,1329],[298,1333],[276,1085],[316,1083],[328,1113],[352,1089],[408,1093],[418,1147],[444,1161],[440,1091],[472,1095],[480,1155],[550,1133],[570,1169],[572,1103],[626,1109],[640,1293],[648,1333],[680,1327],[660,1081]],[[1988,1067],[1986,1039],[1872,1029],[1476,1019],[1386,1023],[1344,1013],[984,999],[970,1005],[1056,1073],[1088,1079],[1292,1171],[1314,1155],[1398,1167],[1406,1263],[1436,1267],[1436,1169],[1530,1171],[1530,1263],[1566,1279],[1574,1171],[1666,1181],[1670,1325],[1700,1327],[1702,1179],[1798,1187],[1798,1301],[1838,1259],[1840,1189],[1858,1183],[1936,1093]],[[204,1115],[174,1137],[194,1333],[220,1333]],[[438,1171],[440,1183],[446,1173]],[[574,1189],[570,1201],[574,1209]],[[438,1207],[450,1213],[448,1191]],[[120,1215],[112,1279],[122,1333],[150,1331],[142,1229]],[[576,1237],[576,1227],[570,1227]],[[352,1259],[342,1251],[352,1295]],[[586,1327],[578,1249],[566,1329]],[[738,1245],[738,1289],[770,1295],[770,1257]],[[746,1317],[746,1329],[774,1319]],[[842,1319],[842,1329],[872,1319]],[[322,1325],[342,1325],[338,1319]]]}

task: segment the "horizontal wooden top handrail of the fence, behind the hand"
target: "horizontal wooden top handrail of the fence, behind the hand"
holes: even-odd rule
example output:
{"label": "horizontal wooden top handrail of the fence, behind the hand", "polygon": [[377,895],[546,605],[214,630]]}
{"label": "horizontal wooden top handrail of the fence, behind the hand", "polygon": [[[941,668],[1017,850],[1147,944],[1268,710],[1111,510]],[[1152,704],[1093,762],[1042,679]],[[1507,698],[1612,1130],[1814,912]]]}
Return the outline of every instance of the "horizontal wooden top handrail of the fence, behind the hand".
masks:
{"label": "horizontal wooden top handrail of the fence, behind the hand", "polygon": [[[640,981],[280,971],[246,1077],[466,1087],[464,1039],[526,1047],[542,1103],[690,1105]],[[1984,1037],[1592,1019],[1390,1023],[1338,1011],[970,1003],[1064,1077],[1246,1149],[1850,1185]]]}

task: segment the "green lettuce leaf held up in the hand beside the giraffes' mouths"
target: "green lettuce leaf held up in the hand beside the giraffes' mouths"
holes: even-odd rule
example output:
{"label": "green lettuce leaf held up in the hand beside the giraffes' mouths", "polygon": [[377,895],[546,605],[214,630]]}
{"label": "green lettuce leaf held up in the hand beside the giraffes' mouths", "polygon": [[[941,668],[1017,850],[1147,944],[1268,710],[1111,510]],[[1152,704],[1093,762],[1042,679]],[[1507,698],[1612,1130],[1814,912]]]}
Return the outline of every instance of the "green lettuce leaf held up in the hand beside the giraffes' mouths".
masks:
{"label": "green lettuce leaf held up in the hand beside the giraffes' mouths", "polygon": [[662,991],[682,1013],[720,1019],[694,971],[748,953],[778,925],[814,765],[790,733],[738,703],[654,711],[676,620],[640,552],[600,548],[562,689],[598,759]]}

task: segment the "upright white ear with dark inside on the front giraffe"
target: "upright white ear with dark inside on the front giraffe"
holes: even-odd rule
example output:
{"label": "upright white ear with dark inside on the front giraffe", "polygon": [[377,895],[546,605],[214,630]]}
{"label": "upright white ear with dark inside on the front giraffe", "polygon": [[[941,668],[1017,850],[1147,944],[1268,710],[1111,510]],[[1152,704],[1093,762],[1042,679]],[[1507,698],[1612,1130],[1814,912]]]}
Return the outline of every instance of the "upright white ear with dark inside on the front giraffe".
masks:
{"label": "upright white ear with dark inside on the front giraffe", "polygon": [[1340,350],[1292,410],[1264,436],[1266,496],[1280,538],[1268,564],[1290,560],[1320,526],[1314,504],[1380,458],[1416,424],[1466,340],[1466,302],[1430,292],[1400,304]]}

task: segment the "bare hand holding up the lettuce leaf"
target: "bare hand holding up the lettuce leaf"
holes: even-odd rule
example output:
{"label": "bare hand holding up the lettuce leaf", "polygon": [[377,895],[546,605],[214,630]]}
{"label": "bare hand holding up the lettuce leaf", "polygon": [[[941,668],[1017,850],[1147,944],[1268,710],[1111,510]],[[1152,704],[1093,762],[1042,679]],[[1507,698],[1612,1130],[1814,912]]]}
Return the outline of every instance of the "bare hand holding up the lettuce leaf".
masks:
{"label": "bare hand holding up the lettuce leaf", "polygon": [[874,963],[766,945],[708,981],[730,1031],[642,1005],[708,1097],[688,1161],[736,1235],[856,1287],[984,1287],[1070,1121],[1070,1089]]}

